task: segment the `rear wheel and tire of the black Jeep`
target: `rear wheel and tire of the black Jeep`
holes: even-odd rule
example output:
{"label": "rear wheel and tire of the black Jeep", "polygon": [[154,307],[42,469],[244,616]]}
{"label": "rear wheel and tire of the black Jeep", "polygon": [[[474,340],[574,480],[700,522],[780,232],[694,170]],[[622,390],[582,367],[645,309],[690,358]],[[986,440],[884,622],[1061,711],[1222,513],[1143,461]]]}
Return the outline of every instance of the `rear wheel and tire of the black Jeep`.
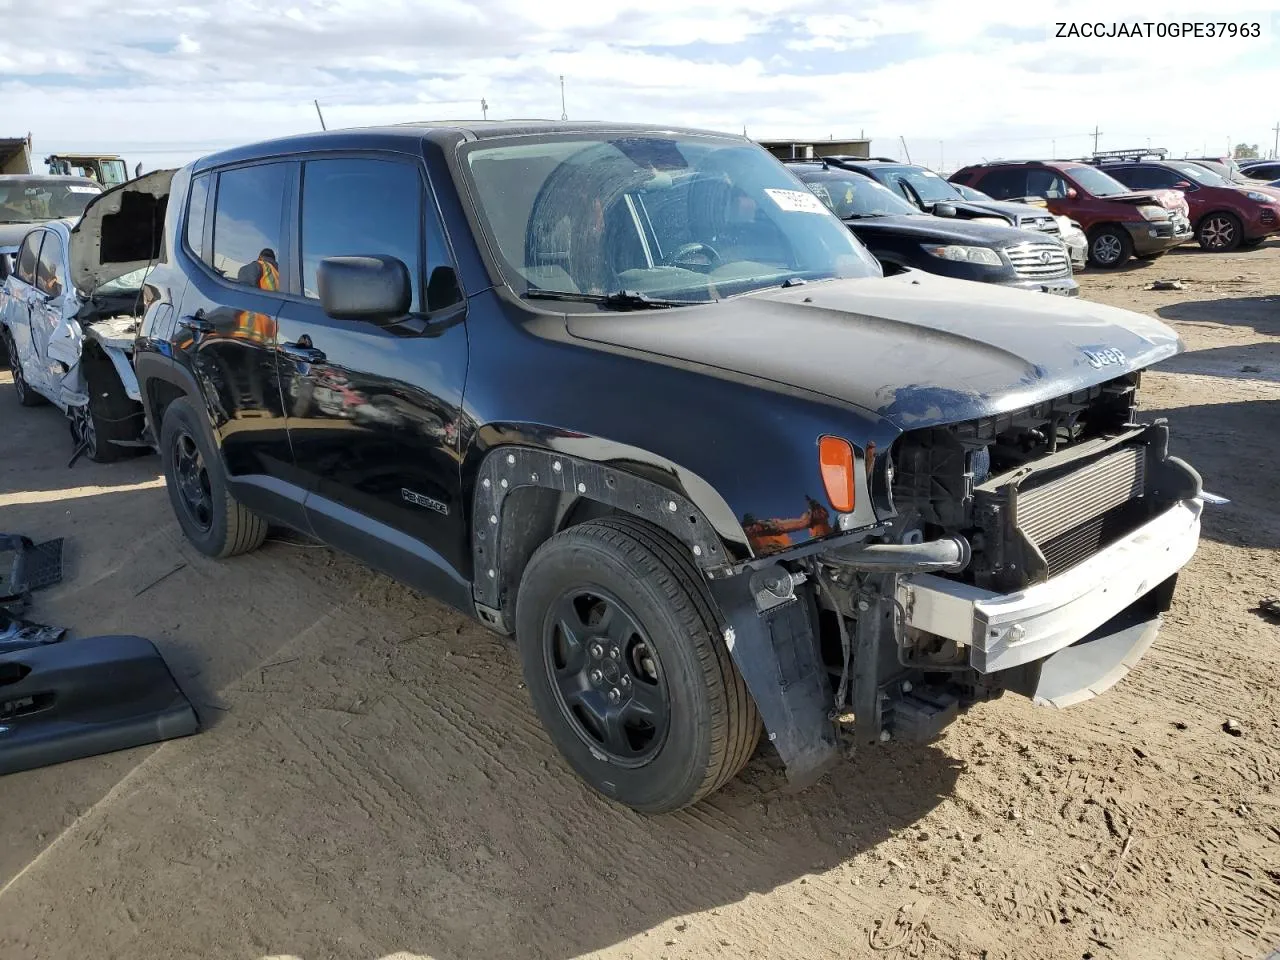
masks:
{"label": "rear wheel and tire of the black Jeep", "polygon": [[191,401],[175,399],[160,426],[160,458],[182,532],[206,557],[223,559],[261,547],[268,525],[232,495],[206,429]]}

